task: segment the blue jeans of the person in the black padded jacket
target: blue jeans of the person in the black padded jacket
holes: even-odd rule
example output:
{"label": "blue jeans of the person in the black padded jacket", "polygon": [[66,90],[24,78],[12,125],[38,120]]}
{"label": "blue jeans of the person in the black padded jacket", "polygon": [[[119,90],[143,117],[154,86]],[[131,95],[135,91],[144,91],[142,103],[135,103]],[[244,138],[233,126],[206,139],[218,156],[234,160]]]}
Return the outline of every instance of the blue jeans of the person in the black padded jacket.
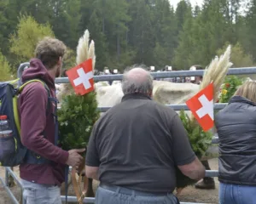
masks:
{"label": "blue jeans of the person in the black padded jacket", "polygon": [[256,186],[219,183],[219,204],[256,203]]}

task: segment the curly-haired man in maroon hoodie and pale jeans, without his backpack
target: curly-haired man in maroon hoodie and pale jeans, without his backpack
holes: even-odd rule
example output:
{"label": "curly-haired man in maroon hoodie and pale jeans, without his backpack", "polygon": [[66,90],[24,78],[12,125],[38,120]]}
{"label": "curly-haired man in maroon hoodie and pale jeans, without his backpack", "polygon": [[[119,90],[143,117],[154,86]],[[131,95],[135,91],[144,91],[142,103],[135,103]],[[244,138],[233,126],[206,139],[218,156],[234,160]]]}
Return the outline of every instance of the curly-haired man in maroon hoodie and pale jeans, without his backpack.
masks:
{"label": "curly-haired man in maroon hoodie and pale jeans, without his backpack", "polygon": [[56,144],[55,77],[61,74],[65,52],[63,42],[45,37],[21,77],[22,82],[41,81],[27,84],[19,97],[20,137],[27,148],[20,165],[26,204],[61,204],[65,165],[78,167],[82,161],[79,152],[84,150],[65,151]]}

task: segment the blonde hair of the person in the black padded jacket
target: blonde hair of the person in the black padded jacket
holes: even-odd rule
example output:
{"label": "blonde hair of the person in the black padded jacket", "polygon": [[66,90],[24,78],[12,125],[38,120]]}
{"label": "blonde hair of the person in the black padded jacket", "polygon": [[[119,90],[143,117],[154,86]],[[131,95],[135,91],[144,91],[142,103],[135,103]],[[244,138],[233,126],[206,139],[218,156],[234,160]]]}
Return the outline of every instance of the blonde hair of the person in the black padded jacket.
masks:
{"label": "blonde hair of the person in the black padded jacket", "polygon": [[245,82],[234,95],[244,97],[256,104],[256,82]]}

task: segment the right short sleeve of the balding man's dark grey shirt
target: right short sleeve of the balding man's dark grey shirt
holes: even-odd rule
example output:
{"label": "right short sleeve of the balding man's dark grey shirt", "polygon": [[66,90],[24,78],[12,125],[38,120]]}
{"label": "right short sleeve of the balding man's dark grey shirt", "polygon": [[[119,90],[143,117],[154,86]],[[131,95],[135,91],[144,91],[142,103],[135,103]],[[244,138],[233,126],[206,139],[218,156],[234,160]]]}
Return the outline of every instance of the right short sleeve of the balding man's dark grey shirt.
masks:
{"label": "right short sleeve of the balding man's dark grey shirt", "polygon": [[171,125],[172,155],[177,166],[183,166],[195,160],[195,152],[189,143],[189,137],[183,122],[178,115],[174,116]]}

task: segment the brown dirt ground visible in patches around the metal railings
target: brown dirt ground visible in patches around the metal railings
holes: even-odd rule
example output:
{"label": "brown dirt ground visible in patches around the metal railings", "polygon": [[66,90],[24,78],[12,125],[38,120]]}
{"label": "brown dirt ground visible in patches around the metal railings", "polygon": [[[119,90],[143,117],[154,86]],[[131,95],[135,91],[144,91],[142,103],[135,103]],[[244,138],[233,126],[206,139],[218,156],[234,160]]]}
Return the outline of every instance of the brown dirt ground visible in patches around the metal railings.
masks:
{"label": "brown dirt ground visible in patches around the metal railings", "polygon": [[[218,159],[209,160],[210,167],[212,170],[218,169]],[[15,167],[15,173],[19,175],[18,168]],[[4,169],[0,167],[0,177],[4,178]],[[179,196],[180,201],[186,202],[201,202],[201,203],[218,203],[218,180],[216,181],[215,190],[196,190],[193,186],[185,188],[181,195]],[[20,198],[20,189],[15,186],[12,188],[12,192],[15,194],[16,198]],[[69,195],[73,195],[73,190],[69,190]],[[0,204],[11,204],[11,201],[7,193],[3,190],[0,185]]]}

